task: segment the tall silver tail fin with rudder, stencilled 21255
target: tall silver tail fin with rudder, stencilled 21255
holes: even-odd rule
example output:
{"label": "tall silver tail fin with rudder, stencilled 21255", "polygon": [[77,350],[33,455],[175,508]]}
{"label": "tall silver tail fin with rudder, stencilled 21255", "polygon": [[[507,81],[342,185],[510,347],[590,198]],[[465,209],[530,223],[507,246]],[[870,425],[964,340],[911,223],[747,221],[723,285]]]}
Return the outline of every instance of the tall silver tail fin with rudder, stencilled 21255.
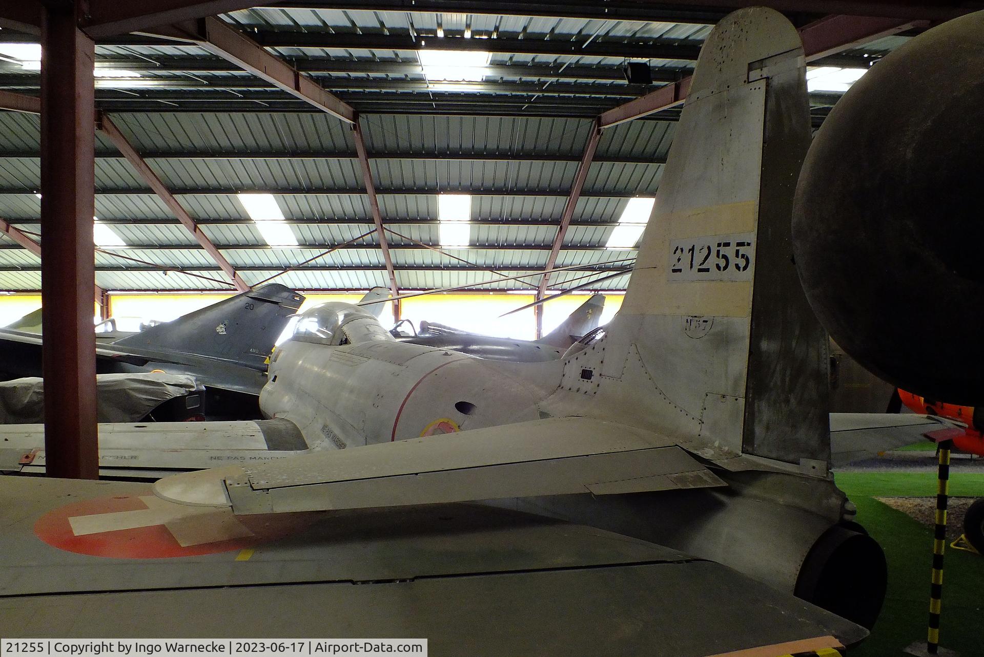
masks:
{"label": "tall silver tail fin with rudder, stencilled 21255", "polygon": [[569,357],[567,390],[721,458],[826,473],[826,334],[792,259],[810,146],[803,45],[778,12],[711,31],[618,315]]}

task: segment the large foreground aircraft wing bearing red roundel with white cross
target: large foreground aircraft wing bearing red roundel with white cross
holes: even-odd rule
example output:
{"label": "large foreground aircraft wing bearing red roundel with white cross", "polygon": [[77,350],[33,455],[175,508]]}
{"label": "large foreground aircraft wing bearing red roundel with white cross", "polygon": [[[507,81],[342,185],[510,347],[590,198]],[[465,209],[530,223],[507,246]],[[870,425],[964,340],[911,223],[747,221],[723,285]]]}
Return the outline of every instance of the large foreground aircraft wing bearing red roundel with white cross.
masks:
{"label": "large foreground aircraft wing bearing red roundel with white cross", "polygon": [[[435,657],[775,657],[866,634],[730,568],[505,508],[290,514],[292,528],[272,534],[285,516],[209,509],[225,515],[176,521],[145,508],[150,487],[131,482],[0,477],[0,499],[9,636],[390,636],[427,638]],[[236,538],[201,542],[223,534]]]}

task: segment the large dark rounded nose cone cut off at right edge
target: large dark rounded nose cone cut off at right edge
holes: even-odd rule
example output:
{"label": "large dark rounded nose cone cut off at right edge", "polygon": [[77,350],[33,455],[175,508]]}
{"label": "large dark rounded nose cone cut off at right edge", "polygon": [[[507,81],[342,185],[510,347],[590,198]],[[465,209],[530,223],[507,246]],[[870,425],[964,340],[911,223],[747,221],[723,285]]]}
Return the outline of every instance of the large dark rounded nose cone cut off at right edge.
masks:
{"label": "large dark rounded nose cone cut off at right edge", "polygon": [[837,102],[792,227],[844,351],[900,388],[984,403],[984,12],[913,38]]}

